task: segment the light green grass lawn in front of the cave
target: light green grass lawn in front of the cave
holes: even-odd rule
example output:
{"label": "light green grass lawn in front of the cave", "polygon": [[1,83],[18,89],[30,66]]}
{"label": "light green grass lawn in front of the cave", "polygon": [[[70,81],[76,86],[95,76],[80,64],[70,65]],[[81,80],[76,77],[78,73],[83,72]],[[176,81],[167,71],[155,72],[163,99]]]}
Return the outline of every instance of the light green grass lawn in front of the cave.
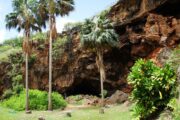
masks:
{"label": "light green grass lawn in front of the cave", "polygon": [[[72,117],[66,113],[71,111]],[[73,108],[70,110],[32,111],[32,114],[16,112],[11,109],[0,107],[0,120],[38,120],[42,116],[45,120],[131,120],[128,107],[125,105],[112,106],[105,109],[105,114],[99,114],[97,107]]]}

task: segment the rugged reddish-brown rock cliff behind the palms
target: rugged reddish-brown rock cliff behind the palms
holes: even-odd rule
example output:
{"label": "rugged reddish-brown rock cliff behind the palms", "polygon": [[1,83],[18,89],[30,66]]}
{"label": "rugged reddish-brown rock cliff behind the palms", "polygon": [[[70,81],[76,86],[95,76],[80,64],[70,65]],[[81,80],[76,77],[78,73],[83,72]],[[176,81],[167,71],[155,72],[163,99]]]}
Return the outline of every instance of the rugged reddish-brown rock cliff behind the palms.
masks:
{"label": "rugged reddish-brown rock cliff behind the palms", "polygon": [[[111,7],[108,18],[114,21],[120,42],[118,48],[104,53],[107,72],[104,84],[108,94],[117,89],[125,93],[131,91],[126,78],[136,59],[150,58],[161,65],[159,56],[164,49],[172,49],[180,43],[179,6],[179,0],[119,0]],[[69,36],[69,42],[63,46],[61,57],[53,61],[53,90],[67,95],[99,95],[95,53],[80,47],[78,28],[63,34]],[[43,43],[44,47],[40,48],[41,44],[32,43],[36,59],[30,65],[30,88],[48,90],[48,44]],[[0,94],[11,86],[11,79],[6,77],[9,65],[0,64],[0,79],[7,83],[6,87],[5,82],[0,83]]]}

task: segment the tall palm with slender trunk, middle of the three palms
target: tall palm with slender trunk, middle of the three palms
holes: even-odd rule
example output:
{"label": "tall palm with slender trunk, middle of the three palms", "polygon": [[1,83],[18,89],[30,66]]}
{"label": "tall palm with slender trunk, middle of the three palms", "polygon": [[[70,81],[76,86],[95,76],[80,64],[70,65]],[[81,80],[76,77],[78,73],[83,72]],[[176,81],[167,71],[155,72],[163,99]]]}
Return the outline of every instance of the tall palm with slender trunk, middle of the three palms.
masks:
{"label": "tall palm with slender trunk, middle of the three palms", "polygon": [[56,16],[68,15],[74,10],[74,0],[39,0],[39,12],[47,21],[49,17],[49,95],[48,110],[52,110],[52,41],[57,37]]}

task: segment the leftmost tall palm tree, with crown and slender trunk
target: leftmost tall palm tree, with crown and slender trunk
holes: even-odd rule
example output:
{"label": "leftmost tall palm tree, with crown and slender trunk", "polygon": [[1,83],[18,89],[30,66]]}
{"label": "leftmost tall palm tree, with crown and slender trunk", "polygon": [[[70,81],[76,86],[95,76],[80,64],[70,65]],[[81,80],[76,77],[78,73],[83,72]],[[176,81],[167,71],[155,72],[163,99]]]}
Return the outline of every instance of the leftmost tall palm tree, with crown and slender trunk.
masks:
{"label": "leftmost tall palm tree, with crown and slender trunk", "polygon": [[25,83],[26,83],[26,113],[29,113],[29,87],[28,87],[28,56],[30,54],[29,38],[31,31],[41,31],[39,26],[45,25],[38,20],[36,13],[36,0],[13,0],[13,12],[6,15],[6,28],[15,28],[24,32],[23,51],[25,53]]}

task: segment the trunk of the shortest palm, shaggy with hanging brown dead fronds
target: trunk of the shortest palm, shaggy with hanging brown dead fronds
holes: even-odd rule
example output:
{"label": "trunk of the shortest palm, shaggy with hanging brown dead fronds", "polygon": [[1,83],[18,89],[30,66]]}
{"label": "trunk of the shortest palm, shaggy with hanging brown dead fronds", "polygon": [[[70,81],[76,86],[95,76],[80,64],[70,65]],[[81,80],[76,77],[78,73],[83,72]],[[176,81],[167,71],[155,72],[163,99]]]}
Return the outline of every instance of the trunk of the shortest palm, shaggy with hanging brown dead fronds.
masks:
{"label": "trunk of the shortest palm, shaggy with hanging brown dead fronds", "polygon": [[104,107],[104,85],[103,82],[106,79],[105,68],[103,64],[103,51],[101,49],[97,50],[97,59],[96,59],[97,66],[100,72],[100,83],[101,83],[101,107]]}

